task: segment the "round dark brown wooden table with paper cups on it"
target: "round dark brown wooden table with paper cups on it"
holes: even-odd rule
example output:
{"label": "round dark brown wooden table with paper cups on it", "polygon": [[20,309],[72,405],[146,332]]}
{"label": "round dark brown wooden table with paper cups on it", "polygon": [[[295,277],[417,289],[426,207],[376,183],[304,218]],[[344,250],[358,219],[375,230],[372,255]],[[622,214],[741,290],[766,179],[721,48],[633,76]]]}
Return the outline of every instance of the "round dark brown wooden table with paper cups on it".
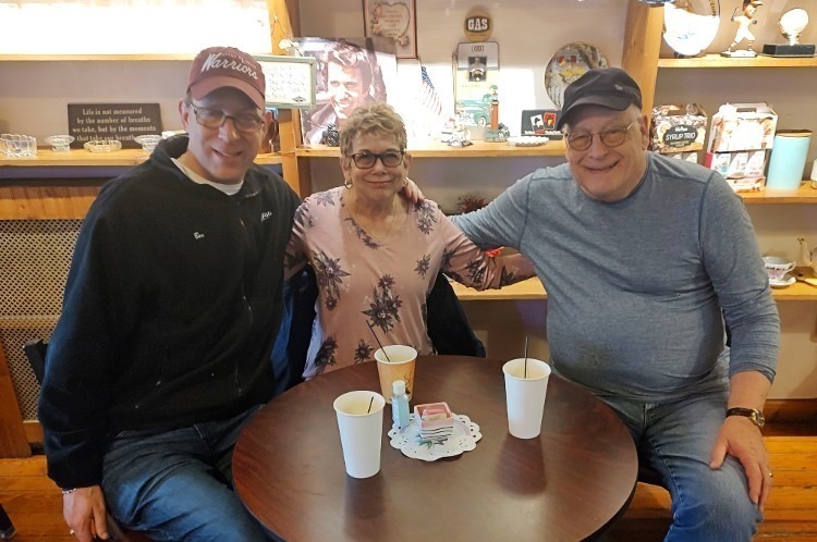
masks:
{"label": "round dark brown wooden table with paper cups on it", "polygon": [[332,402],[379,392],[375,364],[300,384],[265,406],[239,438],[235,489],[288,541],[582,540],[623,513],[635,490],[633,441],[590,393],[551,375],[538,439],[508,433],[502,361],[420,356],[412,407],[448,402],[479,424],[476,448],[427,463],[391,447],[383,410],[380,472],[344,470]]}

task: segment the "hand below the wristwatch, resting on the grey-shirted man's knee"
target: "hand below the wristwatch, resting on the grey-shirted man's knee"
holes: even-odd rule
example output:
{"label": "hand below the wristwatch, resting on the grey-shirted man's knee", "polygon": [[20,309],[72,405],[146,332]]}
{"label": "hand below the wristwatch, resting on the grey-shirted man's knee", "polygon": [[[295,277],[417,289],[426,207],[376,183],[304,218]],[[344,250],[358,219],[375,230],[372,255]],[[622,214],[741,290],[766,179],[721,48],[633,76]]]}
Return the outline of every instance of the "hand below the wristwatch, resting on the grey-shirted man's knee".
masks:
{"label": "hand below the wristwatch, resting on the grey-shirted man's knee", "polygon": [[709,468],[719,469],[727,454],[743,465],[749,484],[749,498],[763,512],[773,480],[760,430],[748,418],[730,416],[723,420],[712,446]]}

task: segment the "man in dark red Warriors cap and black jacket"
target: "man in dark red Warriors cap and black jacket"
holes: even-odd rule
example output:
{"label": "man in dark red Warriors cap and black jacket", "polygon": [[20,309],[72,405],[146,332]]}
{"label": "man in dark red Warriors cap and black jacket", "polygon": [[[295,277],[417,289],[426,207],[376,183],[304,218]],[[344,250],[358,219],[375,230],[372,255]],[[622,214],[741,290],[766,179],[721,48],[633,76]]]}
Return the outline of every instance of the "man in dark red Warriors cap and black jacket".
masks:
{"label": "man in dark red Warriors cap and black jacket", "polygon": [[77,540],[106,510],[154,540],[255,541],[232,489],[243,423],[270,399],[283,256],[298,205],[253,163],[265,76],[237,49],[193,61],[187,134],[106,184],[76,243],[39,403]]}

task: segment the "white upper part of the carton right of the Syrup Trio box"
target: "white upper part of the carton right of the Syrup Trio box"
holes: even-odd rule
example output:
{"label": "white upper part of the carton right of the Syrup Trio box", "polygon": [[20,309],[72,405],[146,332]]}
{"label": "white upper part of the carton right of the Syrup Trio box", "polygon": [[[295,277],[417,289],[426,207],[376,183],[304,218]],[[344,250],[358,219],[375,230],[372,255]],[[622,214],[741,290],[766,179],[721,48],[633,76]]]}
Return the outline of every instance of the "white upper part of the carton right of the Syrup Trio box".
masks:
{"label": "white upper part of the carton right of the Syrup Trio box", "polygon": [[778,115],[765,102],[727,103],[712,115],[708,152],[770,149]]}

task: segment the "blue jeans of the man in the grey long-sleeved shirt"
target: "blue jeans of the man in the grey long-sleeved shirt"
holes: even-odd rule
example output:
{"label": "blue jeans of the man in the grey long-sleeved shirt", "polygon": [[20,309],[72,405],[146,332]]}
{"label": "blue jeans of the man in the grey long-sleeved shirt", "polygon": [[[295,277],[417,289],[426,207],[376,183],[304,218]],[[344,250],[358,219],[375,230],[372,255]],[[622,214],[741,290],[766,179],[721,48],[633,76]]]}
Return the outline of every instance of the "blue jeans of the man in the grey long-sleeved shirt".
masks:
{"label": "blue jeans of the man in the grey long-sleeved shirt", "polygon": [[743,466],[727,456],[718,470],[709,454],[723,423],[727,392],[667,404],[600,397],[630,429],[638,460],[661,479],[672,497],[666,541],[751,540],[763,516],[748,497]]}

